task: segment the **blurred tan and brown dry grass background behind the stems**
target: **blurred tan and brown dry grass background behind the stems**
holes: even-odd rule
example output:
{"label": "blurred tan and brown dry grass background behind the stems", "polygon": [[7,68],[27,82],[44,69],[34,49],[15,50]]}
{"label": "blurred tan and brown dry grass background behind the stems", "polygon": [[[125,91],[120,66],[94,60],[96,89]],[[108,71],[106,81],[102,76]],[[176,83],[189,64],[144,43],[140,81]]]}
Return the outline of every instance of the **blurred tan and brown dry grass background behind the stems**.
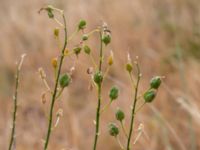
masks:
{"label": "blurred tan and brown dry grass background behind the stems", "polygon": [[[133,141],[138,127],[143,134],[134,145],[135,150],[199,150],[200,149],[200,1],[199,0],[1,0],[0,1],[0,149],[8,146],[12,123],[12,95],[16,61],[26,53],[19,87],[17,114],[17,150],[42,149],[47,130],[50,97],[45,104],[41,94],[46,90],[39,74],[42,67],[53,87],[51,59],[59,49],[53,36],[58,27],[38,10],[52,4],[66,14],[69,34],[80,19],[87,20],[86,32],[106,22],[112,31],[112,43],[106,48],[105,59],[114,52],[114,65],[103,88],[103,105],[108,102],[112,85],[120,88],[120,96],[101,117],[101,136],[98,149],[118,150],[120,147],[107,132],[107,124],[115,121],[120,107],[126,113],[126,127],[130,122],[133,92],[124,69],[127,54],[134,60],[139,56],[143,74],[140,92],[149,86],[154,75],[166,78],[156,100],[146,105],[136,117]],[[62,38],[61,38],[62,39]],[[68,46],[73,48],[78,35]],[[88,44],[98,58],[98,35]],[[97,59],[96,59],[97,60]],[[63,109],[63,116],[52,132],[49,150],[88,150],[92,148],[96,111],[96,90],[88,90],[91,67],[82,53],[64,62],[63,72],[75,67],[73,84],[56,102],[55,114]],[[104,64],[104,70],[106,63]],[[54,123],[56,115],[54,116]],[[117,123],[117,122],[116,122]],[[120,136],[125,143],[125,137]]]}

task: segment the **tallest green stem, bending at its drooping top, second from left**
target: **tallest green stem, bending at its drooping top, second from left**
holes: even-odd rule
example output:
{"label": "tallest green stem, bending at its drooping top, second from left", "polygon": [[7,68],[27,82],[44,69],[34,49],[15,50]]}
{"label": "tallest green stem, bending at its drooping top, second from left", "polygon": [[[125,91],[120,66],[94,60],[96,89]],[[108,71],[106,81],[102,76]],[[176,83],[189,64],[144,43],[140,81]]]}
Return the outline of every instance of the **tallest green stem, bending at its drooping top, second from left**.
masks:
{"label": "tallest green stem, bending at its drooping top, second from left", "polygon": [[64,60],[64,52],[65,52],[65,49],[66,49],[66,46],[67,46],[67,27],[66,27],[67,25],[66,25],[66,19],[65,19],[64,13],[62,13],[62,17],[63,17],[63,21],[64,21],[65,41],[64,41],[64,46],[63,46],[62,51],[61,51],[61,57],[60,57],[58,71],[57,71],[56,82],[55,82],[54,91],[53,91],[53,95],[52,95],[52,99],[51,99],[48,131],[47,131],[46,140],[45,140],[45,144],[44,144],[44,150],[47,150],[51,131],[52,131],[54,104],[55,104],[56,95],[57,95],[57,88],[58,88],[58,82],[59,82],[59,78],[60,78],[61,68],[62,68],[62,64],[63,64],[63,60]]}

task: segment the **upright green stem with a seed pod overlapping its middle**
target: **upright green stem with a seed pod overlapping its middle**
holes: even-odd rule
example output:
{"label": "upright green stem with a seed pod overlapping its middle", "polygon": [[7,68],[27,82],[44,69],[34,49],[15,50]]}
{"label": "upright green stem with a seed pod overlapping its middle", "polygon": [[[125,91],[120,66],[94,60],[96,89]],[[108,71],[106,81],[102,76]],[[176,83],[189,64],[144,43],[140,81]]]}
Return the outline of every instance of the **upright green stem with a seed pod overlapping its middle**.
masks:
{"label": "upright green stem with a seed pod overlapping its middle", "polygon": [[[102,33],[100,33],[100,53],[99,53],[99,67],[98,70],[102,70],[102,62],[103,62],[103,43],[102,43]],[[101,110],[101,89],[102,89],[102,83],[98,84],[98,104],[97,104],[97,110],[96,110],[96,130],[95,130],[95,138],[94,138],[94,146],[93,150],[96,150],[97,147],[97,141],[99,137],[99,124],[100,124],[100,110]]]}

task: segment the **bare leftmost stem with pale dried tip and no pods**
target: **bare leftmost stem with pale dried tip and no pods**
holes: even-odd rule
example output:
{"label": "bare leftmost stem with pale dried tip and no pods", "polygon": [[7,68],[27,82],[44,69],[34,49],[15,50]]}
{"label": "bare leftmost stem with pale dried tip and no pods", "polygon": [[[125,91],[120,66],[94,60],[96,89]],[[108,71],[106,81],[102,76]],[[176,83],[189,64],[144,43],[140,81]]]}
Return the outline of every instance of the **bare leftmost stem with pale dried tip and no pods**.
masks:
{"label": "bare leftmost stem with pale dried tip and no pods", "polygon": [[11,136],[10,136],[10,142],[9,142],[9,150],[13,148],[15,141],[15,126],[16,126],[16,116],[17,116],[17,98],[18,98],[18,87],[19,87],[19,75],[20,75],[20,70],[22,63],[24,61],[25,54],[21,56],[21,60],[17,65],[17,71],[16,71],[16,76],[15,76],[15,93],[13,97],[14,101],[14,111],[13,111],[13,122],[12,122],[12,131],[11,131]]}

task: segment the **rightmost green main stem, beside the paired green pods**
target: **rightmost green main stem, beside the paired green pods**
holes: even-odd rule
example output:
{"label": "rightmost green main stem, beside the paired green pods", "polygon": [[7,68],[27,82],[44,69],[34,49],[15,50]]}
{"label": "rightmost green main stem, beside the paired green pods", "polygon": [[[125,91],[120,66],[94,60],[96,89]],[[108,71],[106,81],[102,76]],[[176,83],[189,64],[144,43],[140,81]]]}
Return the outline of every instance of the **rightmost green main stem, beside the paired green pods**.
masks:
{"label": "rightmost green main stem, beside the paired green pods", "polygon": [[135,119],[136,104],[137,104],[138,88],[139,88],[139,82],[140,82],[140,78],[141,78],[140,68],[138,66],[138,63],[136,63],[136,66],[137,66],[137,83],[136,83],[136,87],[135,87],[134,101],[133,101],[133,105],[131,107],[132,113],[131,113],[130,130],[129,130],[127,147],[126,147],[127,150],[130,150],[130,142],[131,142],[131,136],[132,136],[132,131],[133,131],[134,119]]}

